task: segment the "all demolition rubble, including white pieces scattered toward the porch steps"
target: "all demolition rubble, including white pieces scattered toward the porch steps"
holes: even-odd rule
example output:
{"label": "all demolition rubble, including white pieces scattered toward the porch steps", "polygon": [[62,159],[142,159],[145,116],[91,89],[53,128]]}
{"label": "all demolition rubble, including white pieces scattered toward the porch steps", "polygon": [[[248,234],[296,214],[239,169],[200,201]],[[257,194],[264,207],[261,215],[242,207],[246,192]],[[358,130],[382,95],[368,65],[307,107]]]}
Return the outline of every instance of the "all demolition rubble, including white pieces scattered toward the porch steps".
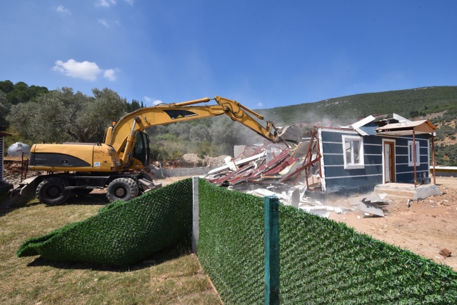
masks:
{"label": "all demolition rubble, including white pieces scattered toward the porch steps", "polygon": [[382,207],[386,201],[377,194],[341,199],[331,204],[306,196],[308,189],[318,191],[321,188],[321,154],[313,134],[295,147],[286,144],[235,146],[234,155],[236,158],[227,156],[226,165],[209,171],[204,178],[255,196],[277,196],[285,205],[326,218],[331,212],[344,214],[356,210],[384,216]]}

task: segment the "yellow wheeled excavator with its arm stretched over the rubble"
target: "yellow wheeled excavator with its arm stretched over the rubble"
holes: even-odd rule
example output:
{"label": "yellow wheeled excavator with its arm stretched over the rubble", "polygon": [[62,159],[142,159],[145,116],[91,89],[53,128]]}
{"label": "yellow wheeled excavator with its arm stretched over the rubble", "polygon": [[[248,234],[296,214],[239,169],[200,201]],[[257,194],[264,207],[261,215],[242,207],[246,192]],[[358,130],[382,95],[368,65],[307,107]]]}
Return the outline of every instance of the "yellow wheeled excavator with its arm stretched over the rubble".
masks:
{"label": "yellow wheeled excavator with its arm stretched over the rubble", "polygon": [[[109,127],[101,144],[34,144],[29,170],[48,174],[26,179],[22,187],[36,186],[36,197],[50,205],[63,203],[71,194],[89,194],[93,189],[106,188],[109,201],[127,201],[156,189],[161,184],[139,172],[149,164],[149,137],[144,130],[179,121],[226,114],[273,143],[283,141],[290,147],[301,139],[297,126],[278,129],[273,122],[265,121],[263,116],[237,101],[216,96],[214,101],[217,104],[196,106],[211,100],[204,98],[138,109]],[[266,126],[259,123],[260,120]]]}

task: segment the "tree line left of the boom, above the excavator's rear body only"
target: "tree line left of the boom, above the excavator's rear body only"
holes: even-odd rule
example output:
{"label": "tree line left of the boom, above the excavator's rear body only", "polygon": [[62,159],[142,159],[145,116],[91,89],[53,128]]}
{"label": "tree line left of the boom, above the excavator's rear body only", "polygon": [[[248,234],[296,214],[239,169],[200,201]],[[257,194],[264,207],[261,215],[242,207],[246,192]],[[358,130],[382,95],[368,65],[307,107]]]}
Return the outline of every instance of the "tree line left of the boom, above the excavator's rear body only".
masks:
{"label": "tree line left of the boom, above the excavator's rear body only", "polygon": [[142,101],[129,103],[111,89],[92,93],[0,81],[0,131],[32,143],[99,142],[109,124],[144,107]]}

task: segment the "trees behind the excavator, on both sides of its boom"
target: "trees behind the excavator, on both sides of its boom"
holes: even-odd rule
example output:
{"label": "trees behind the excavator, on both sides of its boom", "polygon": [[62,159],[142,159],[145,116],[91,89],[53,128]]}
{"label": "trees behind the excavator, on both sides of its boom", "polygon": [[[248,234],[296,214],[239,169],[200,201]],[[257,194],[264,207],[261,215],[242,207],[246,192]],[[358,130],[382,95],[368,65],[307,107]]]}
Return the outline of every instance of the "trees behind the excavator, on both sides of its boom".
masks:
{"label": "trees behind the excavator, on both sides of its boom", "polygon": [[[6,145],[102,142],[113,121],[145,106],[143,101],[127,102],[108,88],[93,89],[92,94],[0,81],[0,131],[14,134],[6,138]],[[155,126],[147,132],[155,160],[179,159],[186,153],[233,154],[233,145],[261,141],[229,117]]]}

